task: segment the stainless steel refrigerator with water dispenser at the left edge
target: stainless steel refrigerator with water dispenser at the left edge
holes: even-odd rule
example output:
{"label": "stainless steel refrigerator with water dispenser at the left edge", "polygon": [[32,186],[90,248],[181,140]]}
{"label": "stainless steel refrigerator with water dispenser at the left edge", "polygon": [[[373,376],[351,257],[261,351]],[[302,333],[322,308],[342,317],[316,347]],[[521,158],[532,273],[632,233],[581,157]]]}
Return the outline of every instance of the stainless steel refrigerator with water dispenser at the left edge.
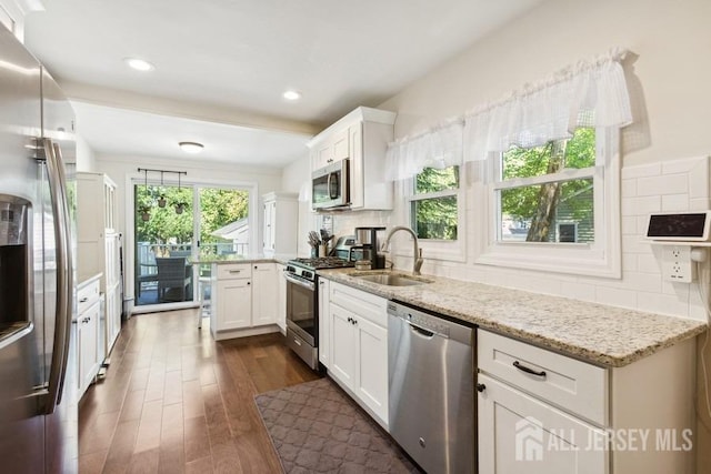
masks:
{"label": "stainless steel refrigerator with water dispenser at the left edge", "polygon": [[0,473],[78,471],[73,112],[0,26]]}

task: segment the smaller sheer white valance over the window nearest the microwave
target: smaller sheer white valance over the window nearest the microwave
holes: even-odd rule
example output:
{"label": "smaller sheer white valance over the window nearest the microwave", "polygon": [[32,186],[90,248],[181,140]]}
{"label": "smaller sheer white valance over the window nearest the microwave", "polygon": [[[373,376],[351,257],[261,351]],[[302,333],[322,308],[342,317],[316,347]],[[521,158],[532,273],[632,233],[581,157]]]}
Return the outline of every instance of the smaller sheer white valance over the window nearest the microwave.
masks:
{"label": "smaller sheer white valance over the window nearest the microwave", "polygon": [[390,143],[385,158],[387,179],[399,181],[414,177],[424,168],[443,169],[461,164],[463,129],[462,119],[452,119]]}

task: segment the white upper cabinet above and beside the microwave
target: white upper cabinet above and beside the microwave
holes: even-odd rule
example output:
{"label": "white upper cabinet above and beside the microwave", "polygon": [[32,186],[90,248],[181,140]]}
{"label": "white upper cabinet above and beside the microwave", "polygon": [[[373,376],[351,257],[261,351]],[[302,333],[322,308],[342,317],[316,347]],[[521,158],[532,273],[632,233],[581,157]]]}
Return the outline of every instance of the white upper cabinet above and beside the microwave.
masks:
{"label": "white upper cabinet above and beside the microwave", "polygon": [[385,180],[385,152],[393,140],[397,114],[359,107],[314,137],[311,171],[348,158],[350,208],[392,209],[392,182]]}

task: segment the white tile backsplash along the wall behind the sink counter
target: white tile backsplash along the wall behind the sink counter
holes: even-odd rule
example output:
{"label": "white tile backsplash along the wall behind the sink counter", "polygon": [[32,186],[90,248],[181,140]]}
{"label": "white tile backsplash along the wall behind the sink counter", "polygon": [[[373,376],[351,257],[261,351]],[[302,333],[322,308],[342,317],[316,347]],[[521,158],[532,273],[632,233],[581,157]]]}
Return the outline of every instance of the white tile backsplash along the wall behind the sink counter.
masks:
{"label": "white tile backsplash along the wall behind the sink counter", "polygon": [[[472,242],[467,244],[467,262],[425,259],[422,272],[640,311],[705,320],[707,312],[698,282],[707,282],[707,292],[709,292],[711,264],[702,265],[695,283],[667,282],[661,275],[661,248],[643,242],[643,238],[649,214],[652,212],[711,209],[709,181],[708,157],[622,169],[620,203],[622,279],[620,280],[477,265],[471,261]],[[467,195],[470,196],[471,193],[467,192]],[[389,211],[333,214],[333,231],[340,236],[352,234],[353,229],[361,225],[390,228],[395,224],[392,214]],[[474,233],[471,230],[474,226],[470,222],[467,228],[470,231],[468,240],[472,240]],[[395,258],[394,260],[397,268],[407,269],[411,264],[410,259]]]}

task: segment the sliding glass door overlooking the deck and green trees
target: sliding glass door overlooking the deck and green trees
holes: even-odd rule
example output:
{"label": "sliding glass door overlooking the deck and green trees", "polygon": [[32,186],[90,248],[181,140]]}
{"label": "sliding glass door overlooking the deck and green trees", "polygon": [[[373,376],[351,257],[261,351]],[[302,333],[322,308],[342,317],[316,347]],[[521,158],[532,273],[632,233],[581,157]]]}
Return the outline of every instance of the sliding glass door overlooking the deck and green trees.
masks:
{"label": "sliding glass door overlooking the deck and green trees", "polygon": [[210,265],[193,262],[250,253],[249,199],[243,189],[136,180],[134,305],[209,302]]}

